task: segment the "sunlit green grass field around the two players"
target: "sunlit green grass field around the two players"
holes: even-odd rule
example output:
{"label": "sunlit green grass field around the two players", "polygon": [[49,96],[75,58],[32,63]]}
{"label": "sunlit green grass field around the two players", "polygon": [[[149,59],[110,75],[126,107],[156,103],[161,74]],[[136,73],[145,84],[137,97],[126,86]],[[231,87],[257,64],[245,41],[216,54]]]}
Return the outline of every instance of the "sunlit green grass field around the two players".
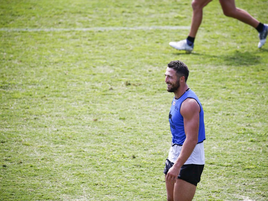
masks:
{"label": "sunlit green grass field around the two players", "polygon": [[[267,0],[236,5],[268,23]],[[2,0],[0,200],[166,200],[172,60],[205,113],[194,200],[268,200],[268,44],[213,1],[172,49],[190,23],[191,1]]]}

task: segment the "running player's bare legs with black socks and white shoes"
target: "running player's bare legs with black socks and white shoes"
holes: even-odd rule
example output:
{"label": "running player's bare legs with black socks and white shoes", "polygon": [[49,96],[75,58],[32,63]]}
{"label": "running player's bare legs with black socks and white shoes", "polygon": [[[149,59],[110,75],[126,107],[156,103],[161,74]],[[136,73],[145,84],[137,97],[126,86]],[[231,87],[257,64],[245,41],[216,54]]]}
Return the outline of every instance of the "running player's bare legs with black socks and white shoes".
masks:
{"label": "running player's bare legs with black socks and white shoes", "polygon": [[[179,42],[170,42],[169,45],[177,50],[186,50],[191,52],[193,50],[193,43],[195,41],[195,36],[198,28],[202,22],[203,8],[212,0],[193,0],[193,16],[191,29],[187,39],[181,40]],[[259,32],[259,43],[258,48],[261,48],[266,42],[266,37],[268,33],[268,25],[262,24],[254,17],[252,17],[248,12],[240,8],[236,8],[235,0],[219,0],[223,13],[228,17],[236,18],[246,24],[251,25]]]}

